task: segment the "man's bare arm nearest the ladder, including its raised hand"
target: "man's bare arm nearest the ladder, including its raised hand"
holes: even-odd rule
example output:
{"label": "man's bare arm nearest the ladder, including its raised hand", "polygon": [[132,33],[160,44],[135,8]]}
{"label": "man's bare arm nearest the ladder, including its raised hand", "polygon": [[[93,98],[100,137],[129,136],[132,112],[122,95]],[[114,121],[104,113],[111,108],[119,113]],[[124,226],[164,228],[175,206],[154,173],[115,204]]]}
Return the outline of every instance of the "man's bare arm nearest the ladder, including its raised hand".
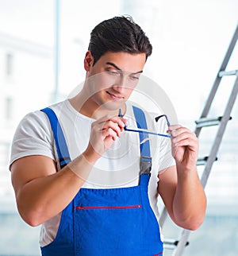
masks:
{"label": "man's bare arm nearest the ladder, including its raised hand", "polygon": [[159,175],[159,194],[178,226],[196,230],[203,222],[206,208],[205,192],[196,168],[198,138],[181,126],[170,129],[176,167],[171,166]]}

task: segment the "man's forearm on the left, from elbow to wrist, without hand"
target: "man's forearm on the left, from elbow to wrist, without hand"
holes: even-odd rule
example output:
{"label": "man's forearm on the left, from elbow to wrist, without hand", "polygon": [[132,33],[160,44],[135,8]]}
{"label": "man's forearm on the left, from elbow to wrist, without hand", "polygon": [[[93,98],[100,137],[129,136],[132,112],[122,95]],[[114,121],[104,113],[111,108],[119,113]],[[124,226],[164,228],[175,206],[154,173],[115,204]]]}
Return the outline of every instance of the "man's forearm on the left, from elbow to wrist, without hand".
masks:
{"label": "man's forearm on the left, from elbow to wrist, without hand", "polygon": [[92,166],[79,156],[59,172],[23,185],[16,197],[17,208],[25,222],[36,226],[63,211],[83,186]]}

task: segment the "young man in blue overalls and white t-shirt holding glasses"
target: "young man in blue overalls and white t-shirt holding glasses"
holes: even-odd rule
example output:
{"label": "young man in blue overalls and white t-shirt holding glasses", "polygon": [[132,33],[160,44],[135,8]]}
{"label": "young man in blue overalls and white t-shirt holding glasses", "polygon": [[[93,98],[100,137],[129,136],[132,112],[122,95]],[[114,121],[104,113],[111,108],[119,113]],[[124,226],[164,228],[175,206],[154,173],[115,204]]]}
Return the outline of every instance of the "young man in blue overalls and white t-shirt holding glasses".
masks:
{"label": "young man in blue overalls and white t-shirt holding glasses", "polygon": [[178,226],[201,225],[206,200],[195,134],[172,125],[171,139],[148,140],[125,127],[131,120],[156,130],[149,114],[127,103],[151,53],[131,18],[102,21],[91,33],[82,91],[27,114],[17,127],[13,188],[22,219],[42,224],[42,255],[162,255],[158,194]]}

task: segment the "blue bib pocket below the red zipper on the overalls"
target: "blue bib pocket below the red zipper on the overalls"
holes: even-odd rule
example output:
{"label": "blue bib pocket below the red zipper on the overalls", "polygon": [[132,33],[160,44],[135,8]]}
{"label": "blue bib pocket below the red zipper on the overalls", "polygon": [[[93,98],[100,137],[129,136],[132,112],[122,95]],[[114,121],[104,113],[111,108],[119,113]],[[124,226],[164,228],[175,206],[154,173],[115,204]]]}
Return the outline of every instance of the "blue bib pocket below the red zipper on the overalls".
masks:
{"label": "blue bib pocket below the red zipper on the overalls", "polygon": [[[76,210],[77,211],[77,210]],[[134,251],[141,242],[140,207],[78,210],[75,227],[76,255],[117,255]],[[84,225],[83,223],[86,223]],[[140,221],[139,221],[140,223]],[[78,227],[77,227],[78,226]]]}

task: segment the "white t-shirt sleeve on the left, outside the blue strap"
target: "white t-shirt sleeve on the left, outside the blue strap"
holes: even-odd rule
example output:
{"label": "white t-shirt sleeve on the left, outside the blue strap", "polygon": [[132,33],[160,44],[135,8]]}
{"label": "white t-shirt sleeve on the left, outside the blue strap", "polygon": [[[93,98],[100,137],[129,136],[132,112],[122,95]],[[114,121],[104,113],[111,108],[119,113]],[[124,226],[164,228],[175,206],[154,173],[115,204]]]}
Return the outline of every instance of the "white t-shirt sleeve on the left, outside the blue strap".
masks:
{"label": "white t-shirt sleeve on the left, outside the blue strap", "polygon": [[54,139],[49,120],[41,111],[25,115],[13,136],[10,165],[21,157],[42,155],[55,159]]}

